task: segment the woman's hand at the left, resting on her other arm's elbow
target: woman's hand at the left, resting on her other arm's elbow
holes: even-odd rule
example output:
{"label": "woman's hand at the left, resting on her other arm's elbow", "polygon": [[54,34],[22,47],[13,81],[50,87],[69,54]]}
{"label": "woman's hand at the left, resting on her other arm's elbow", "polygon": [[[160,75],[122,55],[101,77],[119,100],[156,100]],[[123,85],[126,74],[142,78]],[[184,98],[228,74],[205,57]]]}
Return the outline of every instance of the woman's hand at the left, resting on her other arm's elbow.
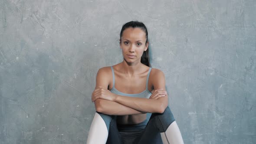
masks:
{"label": "woman's hand at the left, resting on her other arm's elbow", "polygon": [[110,92],[108,89],[102,88],[100,86],[92,92],[92,102],[98,98],[102,98],[108,101],[114,101],[115,95],[112,92]]}

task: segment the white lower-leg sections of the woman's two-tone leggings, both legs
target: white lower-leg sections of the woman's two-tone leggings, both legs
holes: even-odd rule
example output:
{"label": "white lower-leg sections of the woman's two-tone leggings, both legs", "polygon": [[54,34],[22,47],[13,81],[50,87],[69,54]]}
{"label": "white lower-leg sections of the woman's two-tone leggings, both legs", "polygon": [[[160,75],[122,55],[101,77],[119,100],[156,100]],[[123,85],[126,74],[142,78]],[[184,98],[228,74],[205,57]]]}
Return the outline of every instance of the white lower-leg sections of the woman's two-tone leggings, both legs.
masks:
{"label": "white lower-leg sections of the woman's two-tone leggings, both legs", "polygon": [[[176,121],[172,122],[165,132],[160,133],[164,144],[184,144]],[[87,137],[87,144],[105,144],[108,139],[108,128],[103,118],[95,113]]]}

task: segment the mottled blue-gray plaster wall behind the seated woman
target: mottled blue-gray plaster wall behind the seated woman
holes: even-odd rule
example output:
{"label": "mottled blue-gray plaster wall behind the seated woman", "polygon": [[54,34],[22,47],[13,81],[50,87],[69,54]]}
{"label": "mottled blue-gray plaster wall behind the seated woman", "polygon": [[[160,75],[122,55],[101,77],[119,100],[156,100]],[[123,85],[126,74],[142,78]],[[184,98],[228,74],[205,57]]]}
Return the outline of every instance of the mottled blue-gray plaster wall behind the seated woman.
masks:
{"label": "mottled blue-gray plaster wall behind the seated woman", "polygon": [[256,143],[255,0],[0,0],[0,144],[85,144],[130,20],[186,144]]}

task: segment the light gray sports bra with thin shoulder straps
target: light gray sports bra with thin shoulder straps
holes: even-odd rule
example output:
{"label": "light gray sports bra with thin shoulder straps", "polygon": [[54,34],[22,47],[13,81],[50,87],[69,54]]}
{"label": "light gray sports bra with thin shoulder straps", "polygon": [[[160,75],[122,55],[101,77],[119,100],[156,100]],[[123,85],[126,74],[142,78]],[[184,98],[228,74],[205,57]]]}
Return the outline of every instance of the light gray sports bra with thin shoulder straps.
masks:
{"label": "light gray sports bra with thin shoulder straps", "polygon": [[124,95],[124,96],[131,96],[131,97],[138,97],[138,98],[149,98],[150,95],[152,94],[149,90],[148,90],[148,78],[149,78],[149,74],[151,72],[151,68],[149,68],[148,70],[148,76],[147,76],[147,82],[146,82],[146,89],[143,92],[140,92],[138,94],[126,94],[123,92],[119,92],[117,89],[115,89],[115,73],[114,73],[114,69],[111,66],[112,69],[112,77],[113,77],[113,88],[110,90],[110,92],[117,94],[117,95]]}

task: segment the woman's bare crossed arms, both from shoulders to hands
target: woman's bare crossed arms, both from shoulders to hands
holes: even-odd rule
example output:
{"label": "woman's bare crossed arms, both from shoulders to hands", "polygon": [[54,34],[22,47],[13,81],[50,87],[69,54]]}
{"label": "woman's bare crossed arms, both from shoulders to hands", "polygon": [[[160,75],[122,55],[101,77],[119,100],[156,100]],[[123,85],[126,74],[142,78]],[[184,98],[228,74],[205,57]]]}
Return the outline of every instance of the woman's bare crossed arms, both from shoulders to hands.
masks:
{"label": "woman's bare crossed arms, both from shoulders to hands", "polygon": [[151,71],[154,92],[150,98],[135,98],[116,95],[108,90],[108,68],[98,70],[92,101],[96,111],[106,115],[135,115],[144,113],[163,113],[168,105],[168,95],[165,90],[164,73],[158,69]]}

